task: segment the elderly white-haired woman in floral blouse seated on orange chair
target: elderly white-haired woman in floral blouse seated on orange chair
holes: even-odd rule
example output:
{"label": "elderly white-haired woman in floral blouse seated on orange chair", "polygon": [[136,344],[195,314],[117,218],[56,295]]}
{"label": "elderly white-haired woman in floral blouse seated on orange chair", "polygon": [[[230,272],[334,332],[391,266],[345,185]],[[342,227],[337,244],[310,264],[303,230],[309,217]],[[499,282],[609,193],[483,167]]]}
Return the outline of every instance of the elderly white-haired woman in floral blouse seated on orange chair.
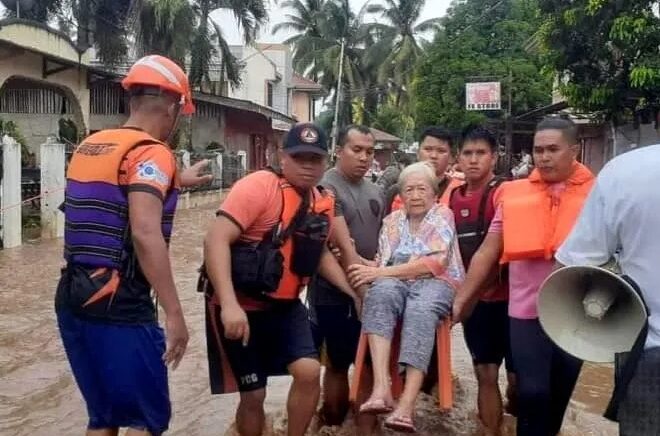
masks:
{"label": "elderly white-haired woman in floral blouse seated on orange chair", "polygon": [[[369,339],[374,388],[361,413],[389,413],[385,426],[414,432],[415,401],[433,352],[440,320],[450,315],[454,292],[465,275],[452,212],[436,203],[437,179],[425,162],[399,176],[404,208],[387,216],[379,240],[378,266],[351,265],[355,288],[371,283],[362,312]],[[405,387],[398,406],[390,390],[389,362],[396,326],[402,323],[399,364]]]}

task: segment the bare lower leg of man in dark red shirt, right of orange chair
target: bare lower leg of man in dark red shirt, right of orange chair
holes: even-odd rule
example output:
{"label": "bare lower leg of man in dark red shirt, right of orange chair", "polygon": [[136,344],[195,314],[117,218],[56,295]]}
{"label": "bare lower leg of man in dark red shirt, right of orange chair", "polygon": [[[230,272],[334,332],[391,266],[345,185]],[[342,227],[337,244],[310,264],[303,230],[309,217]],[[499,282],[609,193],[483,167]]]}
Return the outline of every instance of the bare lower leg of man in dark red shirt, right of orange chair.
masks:
{"label": "bare lower leg of man in dark red shirt, right of orange chair", "polygon": [[479,419],[486,436],[500,436],[502,425],[502,395],[497,383],[499,367],[495,364],[476,365],[479,385]]}

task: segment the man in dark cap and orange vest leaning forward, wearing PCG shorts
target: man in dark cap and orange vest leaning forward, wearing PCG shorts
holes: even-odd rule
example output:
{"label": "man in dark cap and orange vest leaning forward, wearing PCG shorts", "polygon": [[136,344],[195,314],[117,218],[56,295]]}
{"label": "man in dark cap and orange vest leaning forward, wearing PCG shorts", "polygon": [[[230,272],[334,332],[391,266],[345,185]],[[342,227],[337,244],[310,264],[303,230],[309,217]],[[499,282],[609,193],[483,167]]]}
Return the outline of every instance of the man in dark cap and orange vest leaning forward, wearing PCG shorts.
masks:
{"label": "man in dark cap and orange vest leaning forward, wearing PCG shorts", "polygon": [[326,245],[335,203],[316,186],[327,154],[322,130],[294,126],[279,153],[281,171],[239,180],[205,240],[211,392],[240,392],[242,436],[262,434],[267,378],[287,373],[288,434],[304,435],[320,394],[320,365],[299,294],[317,270],[353,294]]}

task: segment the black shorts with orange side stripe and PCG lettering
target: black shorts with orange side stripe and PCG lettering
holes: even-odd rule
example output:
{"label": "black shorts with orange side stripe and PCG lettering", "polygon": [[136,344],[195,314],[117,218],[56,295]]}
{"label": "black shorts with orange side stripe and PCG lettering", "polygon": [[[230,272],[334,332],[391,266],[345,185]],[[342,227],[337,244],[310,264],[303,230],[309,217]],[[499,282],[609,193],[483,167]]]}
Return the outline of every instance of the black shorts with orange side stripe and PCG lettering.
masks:
{"label": "black shorts with orange side stripe and PCG lettering", "polygon": [[212,394],[265,388],[269,376],[288,374],[298,359],[318,359],[307,309],[299,301],[247,312],[250,341],[225,338],[220,306],[206,304],[206,340]]}

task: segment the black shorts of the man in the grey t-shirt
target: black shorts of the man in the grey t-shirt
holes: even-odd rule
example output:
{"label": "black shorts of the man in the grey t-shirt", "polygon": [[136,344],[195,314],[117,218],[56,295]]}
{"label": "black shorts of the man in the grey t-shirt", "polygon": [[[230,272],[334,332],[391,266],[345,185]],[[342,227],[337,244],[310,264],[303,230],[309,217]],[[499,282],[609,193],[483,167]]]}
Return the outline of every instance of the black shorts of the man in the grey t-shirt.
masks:
{"label": "black shorts of the man in the grey t-shirt", "polygon": [[345,371],[355,361],[362,323],[353,303],[335,306],[313,306],[312,332],[317,349],[325,345],[328,364]]}

